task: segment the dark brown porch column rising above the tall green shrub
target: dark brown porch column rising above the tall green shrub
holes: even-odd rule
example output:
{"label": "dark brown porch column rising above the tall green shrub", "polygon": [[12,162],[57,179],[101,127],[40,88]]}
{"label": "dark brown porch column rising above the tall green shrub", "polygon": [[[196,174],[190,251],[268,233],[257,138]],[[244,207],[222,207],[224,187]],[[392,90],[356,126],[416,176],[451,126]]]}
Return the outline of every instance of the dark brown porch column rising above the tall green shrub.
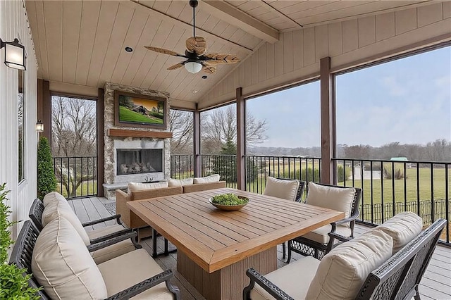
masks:
{"label": "dark brown porch column rising above the tall green shrub", "polygon": [[50,82],[47,80],[37,80],[37,120],[44,124],[44,132],[41,137],[47,137],[51,144],[51,95]]}

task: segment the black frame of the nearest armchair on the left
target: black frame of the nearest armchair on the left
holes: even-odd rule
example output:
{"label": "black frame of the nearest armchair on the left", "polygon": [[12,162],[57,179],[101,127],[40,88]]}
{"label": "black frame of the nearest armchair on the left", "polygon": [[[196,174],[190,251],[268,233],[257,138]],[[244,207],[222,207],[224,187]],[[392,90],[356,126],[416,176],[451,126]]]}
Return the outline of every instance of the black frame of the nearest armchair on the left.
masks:
{"label": "black frame of the nearest armchair on the left", "polygon": [[[22,230],[20,230],[20,234],[18,236],[16,244],[14,244],[10,258],[10,263],[16,264],[19,268],[24,268],[26,270],[26,273],[31,275],[32,275],[31,270],[32,252],[33,248],[35,247],[38,235],[39,230],[37,229],[37,227],[35,227],[35,225],[32,222],[30,222],[30,220],[25,221]],[[137,233],[131,232],[130,235],[132,235],[132,239],[134,239]],[[125,237],[116,237],[116,242],[120,242],[123,239],[125,239]],[[94,245],[94,247],[95,250],[97,250],[103,248],[104,246],[109,246],[112,243],[113,243],[112,240],[105,241],[102,242],[103,245],[97,244]],[[26,274],[24,273],[23,275],[25,276]],[[175,296],[175,299],[180,299],[180,290],[178,289],[178,287],[172,285],[170,281],[172,277],[173,277],[172,270],[171,269],[165,270],[157,275],[149,277],[147,280],[143,280],[142,282],[139,282],[136,285],[129,287],[128,289],[124,289],[123,291],[118,292],[117,294],[109,296],[107,300],[130,299],[132,296],[136,296],[137,294],[140,294],[145,290],[150,289],[151,287],[159,285],[161,282],[166,283],[166,287]],[[30,287],[35,288],[40,287],[39,283],[37,282],[36,278],[33,275],[30,278],[30,280],[28,280],[28,284],[30,285]],[[37,292],[37,296],[41,297],[41,299],[44,300],[50,299],[49,295],[46,292],[44,292],[43,289]]]}

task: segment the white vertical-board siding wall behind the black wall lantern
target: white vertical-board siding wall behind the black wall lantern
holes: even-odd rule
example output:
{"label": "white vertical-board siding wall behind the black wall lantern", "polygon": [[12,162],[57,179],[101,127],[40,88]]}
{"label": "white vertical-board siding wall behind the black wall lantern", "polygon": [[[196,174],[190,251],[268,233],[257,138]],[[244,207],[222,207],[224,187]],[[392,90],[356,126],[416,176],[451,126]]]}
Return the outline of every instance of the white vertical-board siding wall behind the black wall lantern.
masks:
{"label": "white vertical-board siding wall behind the black wall lantern", "polygon": [[[37,161],[37,70],[27,15],[22,0],[0,1],[0,37],[10,42],[20,39],[27,52],[25,71],[25,180],[18,183],[18,127],[17,93],[18,71],[3,63],[4,49],[0,50],[0,183],[7,182],[8,205],[12,220],[26,220],[33,199],[36,198]],[[13,227],[16,239],[21,223]]]}

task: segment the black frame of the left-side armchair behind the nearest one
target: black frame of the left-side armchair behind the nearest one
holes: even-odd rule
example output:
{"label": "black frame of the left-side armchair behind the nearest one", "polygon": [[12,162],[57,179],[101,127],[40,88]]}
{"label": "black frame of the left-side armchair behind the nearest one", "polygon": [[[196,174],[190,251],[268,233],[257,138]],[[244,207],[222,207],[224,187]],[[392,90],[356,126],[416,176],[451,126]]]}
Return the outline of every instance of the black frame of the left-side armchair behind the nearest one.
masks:
{"label": "black frame of the left-side armchair behind the nearest one", "polygon": [[[37,198],[37,199],[35,199],[35,201],[33,201],[32,205],[30,207],[30,212],[28,213],[28,216],[30,217],[32,222],[35,224],[35,227],[37,227],[37,229],[39,231],[42,230],[42,213],[44,213],[44,204],[42,203],[41,199]],[[93,220],[93,221],[89,221],[87,223],[82,223],[82,226],[83,227],[92,226],[92,225],[103,223],[103,222],[106,222],[109,220],[116,220],[118,225],[123,225],[123,223],[121,223],[120,218],[121,218],[121,215],[111,215],[109,217],[101,218],[99,220]],[[90,242],[91,242],[91,244],[97,244],[99,242],[104,242],[106,240],[113,239],[114,237],[126,235],[130,232],[132,232],[131,229],[127,229],[124,227],[124,230],[120,230],[118,232],[113,232],[109,235],[104,235],[103,237],[97,237],[96,239],[91,239]]]}

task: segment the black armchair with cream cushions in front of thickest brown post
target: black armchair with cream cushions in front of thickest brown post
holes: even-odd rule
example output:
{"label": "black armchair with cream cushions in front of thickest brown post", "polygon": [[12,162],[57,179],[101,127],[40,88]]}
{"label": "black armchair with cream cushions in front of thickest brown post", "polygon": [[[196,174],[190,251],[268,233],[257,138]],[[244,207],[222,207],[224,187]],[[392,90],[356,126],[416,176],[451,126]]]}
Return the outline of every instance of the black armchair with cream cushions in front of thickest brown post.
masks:
{"label": "black armchair with cream cushions in front of thickest brown post", "polygon": [[[317,185],[319,187],[330,187],[333,191],[344,191],[344,189],[349,189],[349,187],[340,187],[337,185],[325,185],[319,183],[313,183],[313,185]],[[350,215],[347,218],[343,218],[342,220],[338,220],[337,222],[330,223],[330,225],[326,225],[324,227],[320,227],[317,230],[307,233],[307,235],[303,235],[301,237],[296,237],[295,239],[291,239],[288,242],[288,258],[287,263],[290,263],[292,251],[302,254],[304,256],[311,255],[315,258],[321,259],[324,255],[326,255],[330,250],[332,250],[335,244],[335,235],[343,235],[345,237],[354,237],[354,224],[355,220],[359,216],[359,203],[362,197],[362,189],[353,188],[354,195],[352,198],[352,202],[350,202]],[[309,191],[307,191],[307,201],[309,204]],[[330,201],[334,201],[335,199],[328,199]],[[311,204],[311,203],[310,203]],[[331,208],[328,206],[323,206],[326,208]],[[349,206],[347,206],[349,208]],[[347,208],[347,209],[348,209]],[[346,227],[344,226],[346,225]],[[330,230],[329,230],[330,228]],[[332,235],[329,235],[331,233]]]}

